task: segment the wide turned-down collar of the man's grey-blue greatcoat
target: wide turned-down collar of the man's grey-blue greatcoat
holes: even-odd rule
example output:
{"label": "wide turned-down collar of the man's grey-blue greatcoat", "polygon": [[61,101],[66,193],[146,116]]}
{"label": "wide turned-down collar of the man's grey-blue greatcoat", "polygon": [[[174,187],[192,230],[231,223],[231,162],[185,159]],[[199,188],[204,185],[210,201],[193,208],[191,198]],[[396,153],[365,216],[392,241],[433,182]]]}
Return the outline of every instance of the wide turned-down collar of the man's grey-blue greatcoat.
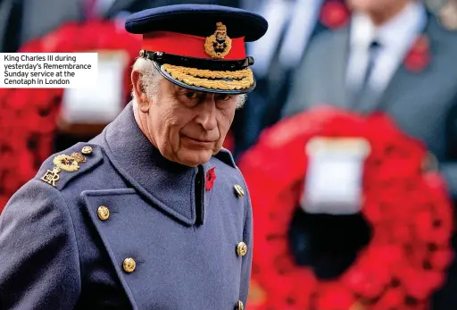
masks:
{"label": "wide turned-down collar of the man's grey-blue greatcoat", "polygon": [[204,205],[204,177],[200,202],[195,201],[195,177],[199,169],[205,175],[208,163],[193,168],[164,158],[139,129],[131,103],[102,136],[105,153],[114,168],[145,199],[188,225],[196,222],[198,214],[203,216],[195,206],[202,209],[200,205]]}

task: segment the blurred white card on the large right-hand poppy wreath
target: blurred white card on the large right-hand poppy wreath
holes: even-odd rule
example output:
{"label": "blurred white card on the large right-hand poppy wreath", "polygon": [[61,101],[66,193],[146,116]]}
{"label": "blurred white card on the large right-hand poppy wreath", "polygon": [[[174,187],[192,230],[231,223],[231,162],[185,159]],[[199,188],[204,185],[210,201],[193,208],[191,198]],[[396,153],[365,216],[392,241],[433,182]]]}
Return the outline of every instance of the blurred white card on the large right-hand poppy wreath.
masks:
{"label": "blurred white card on the large right-hand poppy wreath", "polygon": [[356,214],[362,204],[363,138],[313,138],[305,147],[308,168],[301,205],[310,214]]}

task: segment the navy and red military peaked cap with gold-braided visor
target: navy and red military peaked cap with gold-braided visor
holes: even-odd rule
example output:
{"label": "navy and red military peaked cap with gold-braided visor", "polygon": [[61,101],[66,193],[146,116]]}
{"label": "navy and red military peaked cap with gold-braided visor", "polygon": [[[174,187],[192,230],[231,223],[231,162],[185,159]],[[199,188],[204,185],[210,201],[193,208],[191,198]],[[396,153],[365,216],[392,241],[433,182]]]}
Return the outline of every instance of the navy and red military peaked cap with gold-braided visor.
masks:
{"label": "navy and red military peaked cap with gold-braided visor", "polygon": [[177,4],[134,13],[126,29],[142,34],[140,56],[171,82],[199,91],[242,94],[255,88],[245,42],[268,29],[256,13],[212,4]]}

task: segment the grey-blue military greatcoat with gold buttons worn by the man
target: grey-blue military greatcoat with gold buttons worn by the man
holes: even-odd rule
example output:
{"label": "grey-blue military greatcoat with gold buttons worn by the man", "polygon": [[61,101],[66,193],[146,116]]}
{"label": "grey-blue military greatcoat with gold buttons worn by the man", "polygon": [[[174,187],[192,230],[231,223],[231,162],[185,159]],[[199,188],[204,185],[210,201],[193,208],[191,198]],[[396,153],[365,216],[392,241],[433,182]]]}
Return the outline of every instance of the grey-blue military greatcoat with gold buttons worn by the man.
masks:
{"label": "grey-blue military greatcoat with gold buttons worn by the man", "polygon": [[252,212],[228,151],[195,168],[171,163],[128,105],[58,155],[1,214],[1,309],[244,308]]}

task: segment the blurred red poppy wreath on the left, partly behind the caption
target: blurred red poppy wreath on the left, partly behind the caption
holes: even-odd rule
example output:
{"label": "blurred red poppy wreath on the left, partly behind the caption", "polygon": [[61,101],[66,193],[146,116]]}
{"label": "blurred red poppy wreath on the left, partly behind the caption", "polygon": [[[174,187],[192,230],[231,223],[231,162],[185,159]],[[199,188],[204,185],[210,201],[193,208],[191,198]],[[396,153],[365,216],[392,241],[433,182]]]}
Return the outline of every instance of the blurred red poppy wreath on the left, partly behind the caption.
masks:
{"label": "blurred red poppy wreath on the left, partly behind the caption", "polygon": [[[117,21],[85,21],[59,29],[25,44],[20,53],[125,51],[133,64],[141,38]],[[130,68],[123,87],[130,95]],[[62,102],[62,88],[0,88],[0,212],[9,197],[34,177],[53,153],[54,132]]]}

